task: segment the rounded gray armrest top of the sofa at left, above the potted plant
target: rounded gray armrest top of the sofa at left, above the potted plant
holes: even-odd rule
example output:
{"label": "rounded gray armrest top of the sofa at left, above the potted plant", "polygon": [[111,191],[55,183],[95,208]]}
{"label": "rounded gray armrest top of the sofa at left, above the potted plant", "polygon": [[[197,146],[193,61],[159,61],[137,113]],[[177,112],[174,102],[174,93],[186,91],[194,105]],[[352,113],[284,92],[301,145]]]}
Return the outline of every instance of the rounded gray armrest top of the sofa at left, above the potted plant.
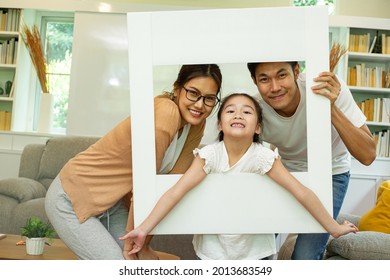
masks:
{"label": "rounded gray armrest top of the sofa at left, above the potted plant", "polygon": [[28,178],[9,178],[0,181],[0,193],[21,202],[45,197],[46,188],[39,182]]}

